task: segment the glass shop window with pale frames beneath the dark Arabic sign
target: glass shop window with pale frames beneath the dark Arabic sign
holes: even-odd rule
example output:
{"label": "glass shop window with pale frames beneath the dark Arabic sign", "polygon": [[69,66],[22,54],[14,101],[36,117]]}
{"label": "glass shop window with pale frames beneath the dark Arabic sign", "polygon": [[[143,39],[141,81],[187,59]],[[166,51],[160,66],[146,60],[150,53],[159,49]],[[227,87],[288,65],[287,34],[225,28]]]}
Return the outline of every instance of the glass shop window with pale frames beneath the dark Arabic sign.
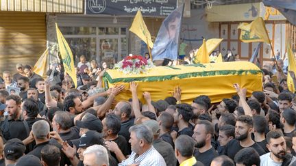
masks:
{"label": "glass shop window with pale frames beneath the dark Arabic sign", "polygon": [[[130,18],[94,17],[87,15],[49,16],[58,23],[71,47],[75,64],[84,55],[87,61],[103,61],[111,67],[128,54]],[[52,31],[54,29],[49,29]]]}

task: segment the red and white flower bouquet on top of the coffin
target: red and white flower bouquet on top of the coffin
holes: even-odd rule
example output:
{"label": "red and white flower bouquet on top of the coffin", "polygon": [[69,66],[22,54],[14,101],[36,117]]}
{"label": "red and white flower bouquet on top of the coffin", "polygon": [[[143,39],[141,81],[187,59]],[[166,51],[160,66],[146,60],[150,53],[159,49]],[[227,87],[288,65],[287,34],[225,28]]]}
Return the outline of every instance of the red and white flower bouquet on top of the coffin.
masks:
{"label": "red and white flower bouquet on top of the coffin", "polygon": [[114,65],[114,69],[124,74],[142,74],[154,68],[150,59],[145,59],[141,55],[132,55],[125,57],[122,61]]}

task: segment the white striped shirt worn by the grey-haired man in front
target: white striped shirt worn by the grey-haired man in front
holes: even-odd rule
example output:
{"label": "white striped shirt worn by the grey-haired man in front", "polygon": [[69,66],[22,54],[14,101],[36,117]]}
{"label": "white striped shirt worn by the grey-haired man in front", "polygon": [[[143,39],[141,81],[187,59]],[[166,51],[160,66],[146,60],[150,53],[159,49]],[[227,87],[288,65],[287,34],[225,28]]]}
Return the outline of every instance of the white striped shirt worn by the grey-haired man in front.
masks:
{"label": "white striped shirt worn by the grey-haired man in front", "polygon": [[139,166],[167,166],[164,158],[151,146],[149,150],[138,156],[132,152],[129,158],[119,163],[119,166],[139,164]]}

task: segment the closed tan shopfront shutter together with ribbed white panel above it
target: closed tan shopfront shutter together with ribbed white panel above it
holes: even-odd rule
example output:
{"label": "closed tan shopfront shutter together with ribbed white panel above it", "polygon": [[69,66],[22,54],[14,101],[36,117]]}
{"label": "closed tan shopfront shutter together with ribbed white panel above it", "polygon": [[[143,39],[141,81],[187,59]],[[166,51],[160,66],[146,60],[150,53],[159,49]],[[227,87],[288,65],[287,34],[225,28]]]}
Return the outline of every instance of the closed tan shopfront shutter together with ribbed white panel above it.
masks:
{"label": "closed tan shopfront shutter together with ribbed white panel above it", "polygon": [[0,3],[0,72],[16,64],[34,66],[47,48],[46,13],[82,13],[83,0],[2,0]]}

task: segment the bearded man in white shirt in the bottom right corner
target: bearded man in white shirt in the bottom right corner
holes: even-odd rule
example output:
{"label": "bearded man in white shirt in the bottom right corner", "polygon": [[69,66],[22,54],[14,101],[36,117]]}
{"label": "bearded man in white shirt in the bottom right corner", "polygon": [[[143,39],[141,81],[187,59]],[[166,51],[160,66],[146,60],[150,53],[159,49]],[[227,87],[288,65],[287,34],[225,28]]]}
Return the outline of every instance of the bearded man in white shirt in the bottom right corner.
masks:
{"label": "bearded man in white shirt in the bottom right corner", "polygon": [[286,152],[286,141],[281,130],[267,133],[269,153],[260,156],[260,166],[292,165],[296,157]]}

